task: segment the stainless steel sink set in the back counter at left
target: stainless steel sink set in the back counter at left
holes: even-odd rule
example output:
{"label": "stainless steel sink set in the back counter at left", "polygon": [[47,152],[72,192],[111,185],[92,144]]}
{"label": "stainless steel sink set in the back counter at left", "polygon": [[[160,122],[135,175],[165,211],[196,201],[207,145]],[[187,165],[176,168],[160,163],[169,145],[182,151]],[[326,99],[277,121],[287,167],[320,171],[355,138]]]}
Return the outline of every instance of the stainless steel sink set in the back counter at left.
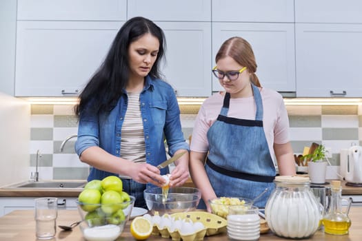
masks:
{"label": "stainless steel sink set in the back counter at left", "polygon": [[83,188],[86,185],[86,180],[62,180],[62,181],[28,181],[28,182],[21,182],[16,185],[10,185],[8,189],[38,189],[38,188],[51,188],[51,189],[61,189],[61,188]]}

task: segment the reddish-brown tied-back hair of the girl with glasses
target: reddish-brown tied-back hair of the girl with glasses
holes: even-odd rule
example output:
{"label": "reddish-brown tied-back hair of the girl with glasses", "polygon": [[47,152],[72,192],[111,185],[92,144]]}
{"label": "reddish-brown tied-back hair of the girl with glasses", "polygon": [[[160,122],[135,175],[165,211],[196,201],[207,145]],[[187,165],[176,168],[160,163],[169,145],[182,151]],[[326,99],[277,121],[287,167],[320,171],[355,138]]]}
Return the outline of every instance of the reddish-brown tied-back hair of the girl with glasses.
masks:
{"label": "reddish-brown tied-back hair of the girl with glasses", "polygon": [[225,56],[230,56],[234,61],[237,61],[242,66],[248,68],[250,72],[250,81],[261,87],[259,82],[259,78],[255,72],[257,72],[257,61],[255,61],[254,52],[252,51],[252,46],[248,41],[239,37],[233,36],[232,38],[226,40],[221,45],[219,51],[217,52],[217,56],[215,56],[215,61],[219,61],[219,59],[225,58]]}

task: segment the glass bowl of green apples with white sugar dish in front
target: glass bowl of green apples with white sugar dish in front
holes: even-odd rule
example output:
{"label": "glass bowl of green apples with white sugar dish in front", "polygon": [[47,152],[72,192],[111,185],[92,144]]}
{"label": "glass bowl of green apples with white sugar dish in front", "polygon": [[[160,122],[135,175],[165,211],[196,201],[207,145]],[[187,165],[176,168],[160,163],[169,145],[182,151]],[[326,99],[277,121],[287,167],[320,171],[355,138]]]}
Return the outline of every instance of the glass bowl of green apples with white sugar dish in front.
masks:
{"label": "glass bowl of green apples with white sugar dish in front", "polygon": [[88,241],[116,240],[130,219],[135,198],[122,191],[117,176],[92,180],[79,193],[79,227]]}

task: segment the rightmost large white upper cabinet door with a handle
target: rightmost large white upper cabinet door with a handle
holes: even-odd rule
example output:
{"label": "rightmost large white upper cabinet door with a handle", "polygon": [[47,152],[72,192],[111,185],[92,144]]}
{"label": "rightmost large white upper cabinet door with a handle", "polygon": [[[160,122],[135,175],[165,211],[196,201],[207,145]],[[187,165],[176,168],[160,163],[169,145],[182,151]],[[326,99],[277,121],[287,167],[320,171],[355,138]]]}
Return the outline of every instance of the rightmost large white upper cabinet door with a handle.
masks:
{"label": "rightmost large white upper cabinet door with a handle", "polygon": [[361,97],[362,25],[296,23],[296,96]]}

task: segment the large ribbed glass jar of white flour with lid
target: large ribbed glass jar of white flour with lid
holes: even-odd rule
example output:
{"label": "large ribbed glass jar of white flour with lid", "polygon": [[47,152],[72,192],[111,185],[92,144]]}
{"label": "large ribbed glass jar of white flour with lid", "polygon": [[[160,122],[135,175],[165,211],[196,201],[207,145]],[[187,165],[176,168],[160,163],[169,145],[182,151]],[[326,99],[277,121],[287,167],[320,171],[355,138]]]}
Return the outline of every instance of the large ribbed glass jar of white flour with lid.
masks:
{"label": "large ribbed glass jar of white flour with lid", "polygon": [[276,176],[276,188],[265,205],[270,230],[283,238],[310,238],[323,218],[323,207],[304,176]]}

